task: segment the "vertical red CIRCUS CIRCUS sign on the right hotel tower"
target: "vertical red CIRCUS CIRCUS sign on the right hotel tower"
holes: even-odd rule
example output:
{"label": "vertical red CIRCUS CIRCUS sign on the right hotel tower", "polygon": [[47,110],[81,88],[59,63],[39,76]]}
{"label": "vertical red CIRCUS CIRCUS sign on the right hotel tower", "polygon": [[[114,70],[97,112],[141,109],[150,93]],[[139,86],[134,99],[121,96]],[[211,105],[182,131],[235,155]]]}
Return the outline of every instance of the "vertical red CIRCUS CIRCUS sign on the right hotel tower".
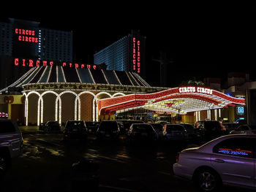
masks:
{"label": "vertical red CIRCUS CIRCUS sign on the right hotel tower", "polygon": [[140,41],[136,40],[135,37],[132,38],[132,69],[140,73]]}

